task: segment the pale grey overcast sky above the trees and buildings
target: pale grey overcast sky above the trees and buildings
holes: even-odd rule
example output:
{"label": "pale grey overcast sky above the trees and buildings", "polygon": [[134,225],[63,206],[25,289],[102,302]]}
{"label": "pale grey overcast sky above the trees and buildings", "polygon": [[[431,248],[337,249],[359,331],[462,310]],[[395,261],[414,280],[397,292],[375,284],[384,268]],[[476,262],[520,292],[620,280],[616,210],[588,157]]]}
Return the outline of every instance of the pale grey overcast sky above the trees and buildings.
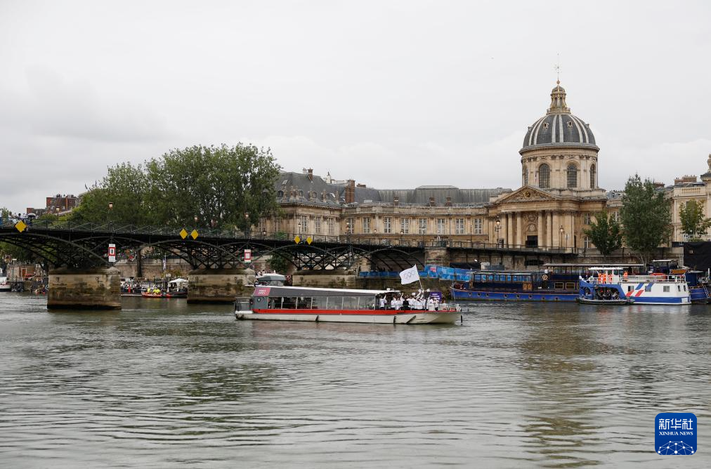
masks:
{"label": "pale grey overcast sky above the trees and buildings", "polygon": [[377,188],[517,188],[560,80],[599,183],[711,153],[708,1],[0,1],[0,206],[171,148]]}

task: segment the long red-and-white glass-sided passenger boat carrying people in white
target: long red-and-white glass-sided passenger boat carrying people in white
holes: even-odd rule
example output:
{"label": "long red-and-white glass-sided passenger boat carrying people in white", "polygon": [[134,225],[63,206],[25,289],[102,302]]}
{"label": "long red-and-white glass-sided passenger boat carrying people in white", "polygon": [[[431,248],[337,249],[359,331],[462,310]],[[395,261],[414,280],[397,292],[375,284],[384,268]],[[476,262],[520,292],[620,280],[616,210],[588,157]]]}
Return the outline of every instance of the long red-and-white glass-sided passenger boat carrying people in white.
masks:
{"label": "long red-and-white glass-sided passenger boat carrying people in white", "polygon": [[237,298],[235,318],[301,320],[331,323],[453,324],[461,320],[455,306],[437,309],[384,308],[394,290],[320,289],[299,286],[257,286],[250,298]]}

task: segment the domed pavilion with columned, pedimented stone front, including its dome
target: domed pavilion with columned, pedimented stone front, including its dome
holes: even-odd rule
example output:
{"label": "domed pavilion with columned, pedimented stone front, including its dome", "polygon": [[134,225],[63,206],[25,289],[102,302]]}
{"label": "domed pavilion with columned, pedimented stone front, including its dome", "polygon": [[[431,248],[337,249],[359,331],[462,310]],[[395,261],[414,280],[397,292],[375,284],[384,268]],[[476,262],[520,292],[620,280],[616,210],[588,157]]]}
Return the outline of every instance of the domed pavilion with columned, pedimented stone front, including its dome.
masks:
{"label": "domed pavilion with columned, pedimented stone front, including its dome", "polygon": [[570,112],[557,82],[550,107],[528,127],[522,187],[489,205],[490,242],[540,248],[588,247],[583,230],[606,205],[598,187],[598,152],[589,124]]}

